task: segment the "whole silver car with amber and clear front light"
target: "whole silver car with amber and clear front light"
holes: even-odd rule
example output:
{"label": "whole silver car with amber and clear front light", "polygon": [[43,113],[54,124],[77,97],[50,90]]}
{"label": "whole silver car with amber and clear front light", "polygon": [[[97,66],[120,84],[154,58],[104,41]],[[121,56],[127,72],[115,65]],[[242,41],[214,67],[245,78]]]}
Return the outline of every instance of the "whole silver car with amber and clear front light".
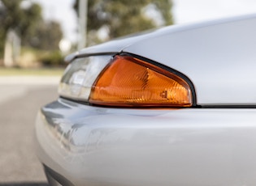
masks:
{"label": "whole silver car with amber and clear front light", "polygon": [[36,121],[51,185],[256,185],[256,15],[66,59],[59,98]]}

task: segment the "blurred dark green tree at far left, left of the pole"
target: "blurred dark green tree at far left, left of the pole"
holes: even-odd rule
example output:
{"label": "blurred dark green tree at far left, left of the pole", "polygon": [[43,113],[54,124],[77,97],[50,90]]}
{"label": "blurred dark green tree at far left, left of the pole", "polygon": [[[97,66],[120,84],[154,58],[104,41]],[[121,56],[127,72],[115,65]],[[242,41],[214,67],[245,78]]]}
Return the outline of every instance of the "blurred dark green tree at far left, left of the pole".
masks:
{"label": "blurred dark green tree at far left, left of the pole", "polygon": [[0,57],[4,40],[9,30],[15,31],[23,46],[36,49],[59,49],[63,32],[59,23],[46,22],[41,15],[41,6],[22,0],[0,0]]}

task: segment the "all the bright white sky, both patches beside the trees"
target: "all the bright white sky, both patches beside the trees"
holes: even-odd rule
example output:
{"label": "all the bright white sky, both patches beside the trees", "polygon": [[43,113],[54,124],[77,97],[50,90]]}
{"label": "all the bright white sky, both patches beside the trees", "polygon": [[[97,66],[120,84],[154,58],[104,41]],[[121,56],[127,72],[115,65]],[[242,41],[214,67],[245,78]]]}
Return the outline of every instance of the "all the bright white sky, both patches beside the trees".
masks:
{"label": "all the bright white sky, both patches beside the trees", "polygon": [[[77,19],[74,0],[31,0],[43,8],[45,19],[61,23],[64,37],[76,41]],[[175,23],[193,23],[234,15],[256,13],[256,0],[172,0]]]}

